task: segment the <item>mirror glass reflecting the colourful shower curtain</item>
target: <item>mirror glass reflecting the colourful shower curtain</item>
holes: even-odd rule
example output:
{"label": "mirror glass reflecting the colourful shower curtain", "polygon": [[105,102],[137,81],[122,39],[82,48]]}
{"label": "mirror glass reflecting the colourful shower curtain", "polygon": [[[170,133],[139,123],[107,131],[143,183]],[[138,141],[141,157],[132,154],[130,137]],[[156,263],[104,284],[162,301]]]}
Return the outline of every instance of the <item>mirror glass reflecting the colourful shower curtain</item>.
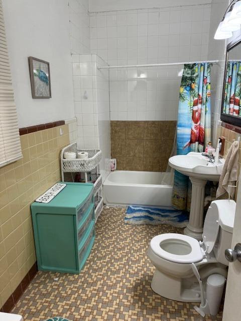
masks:
{"label": "mirror glass reflecting the colourful shower curtain", "polygon": [[241,62],[227,63],[223,113],[241,117]]}

